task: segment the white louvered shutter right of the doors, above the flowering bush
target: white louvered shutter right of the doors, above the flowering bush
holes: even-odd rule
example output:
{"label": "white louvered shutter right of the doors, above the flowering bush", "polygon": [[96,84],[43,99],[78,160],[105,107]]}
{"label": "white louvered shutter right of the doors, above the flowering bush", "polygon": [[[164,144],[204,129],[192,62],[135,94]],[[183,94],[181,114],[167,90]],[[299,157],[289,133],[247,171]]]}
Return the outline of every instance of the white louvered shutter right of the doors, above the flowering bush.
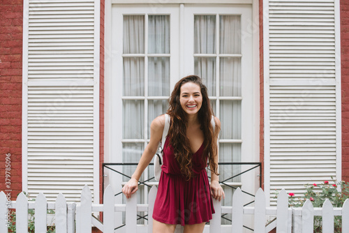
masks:
{"label": "white louvered shutter right of the doors, above the flowering bush", "polygon": [[[336,3],[265,3],[265,188],[341,179]],[[274,200],[276,201],[276,200]],[[274,203],[274,202],[273,202]]]}

